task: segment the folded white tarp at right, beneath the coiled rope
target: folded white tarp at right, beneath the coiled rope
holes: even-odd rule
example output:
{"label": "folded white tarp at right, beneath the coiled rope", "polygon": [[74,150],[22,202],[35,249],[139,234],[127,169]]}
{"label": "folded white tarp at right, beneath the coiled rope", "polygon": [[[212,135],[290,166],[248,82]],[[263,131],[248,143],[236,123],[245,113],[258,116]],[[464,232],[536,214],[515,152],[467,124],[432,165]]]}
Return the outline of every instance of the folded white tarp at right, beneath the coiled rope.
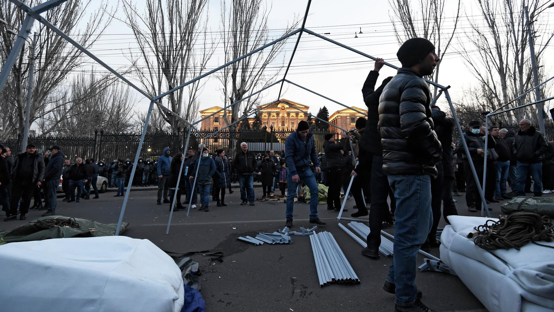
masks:
{"label": "folded white tarp at right, beneath the coiled rope", "polygon": [[520,250],[488,251],[466,235],[498,219],[451,215],[448,220],[452,225],[440,236],[440,259],[489,311],[554,310],[554,249],[528,243]]}

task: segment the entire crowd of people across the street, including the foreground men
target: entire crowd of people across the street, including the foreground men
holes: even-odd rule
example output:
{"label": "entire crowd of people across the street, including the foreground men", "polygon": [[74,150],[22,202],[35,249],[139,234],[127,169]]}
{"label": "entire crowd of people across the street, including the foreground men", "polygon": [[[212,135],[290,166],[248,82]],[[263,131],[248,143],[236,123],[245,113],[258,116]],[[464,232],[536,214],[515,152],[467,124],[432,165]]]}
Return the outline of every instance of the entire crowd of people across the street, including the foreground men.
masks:
{"label": "entire crowd of people across the street, including the foreground men", "polygon": [[[356,129],[341,133],[336,142],[335,134],[325,135],[325,153],[317,154],[315,137],[302,120],[285,139],[280,155],[274,151],[254,154],[245,142],[232,157],[223,149],[210,151],[203,144],[187,150],[187,157],[181,153],[172,156],[171,149],[165,148],[156,161],[139,159],[133,184],[157,184],[157,204],[168,203],[170,209],[175,194],[176,211],[183,209],[183,204],[196,208],[199,195],[198,210],[208,212],[210,197],[217,207],[227,205],[225,194],[227,190],[233,193],[232,180],[240,185],[240,205],[255,205],[253,183],[257,179],[263,187],[263,198],[272,197],[277,188],[281,197],[286,196],[285,226],[289,228],[293,227],[299,185],[305,185],[312,194],[309,222],[318,225],[325,225],[318,217],[319,196],[314,195],[319,194],[318,183],[328,186],[327,210],[332,212],[341,208],[342,189],[343,197],[355,200],[357,211],[352,217],[369,215],[370,234],[363,255],[378,259],[381,229],[396,226],[393,264],[383,285],[385,291],[396,294],[395,310],[432,311],[420,300],[422,293],[414,283],[417,252],[439,246],[436,233],[441,215],[448,223],[449,215],[458,214],[453,196],[465,192],[469,212],[476,212],[481,207],[478,185],[484,176],[486,202],[497,203],[531,192],[540,197],[554,188],[554,142],[547,142],[530,120],[521,120],[517,133],[496,125],[486,129],[479,120],[473,120],[453,142],[453,120],[437,105],[431,105],[429,85],[423,79],[433,73],[439,61],[434,49],[424,38],[404,42],[397,52],[402,68],[376,88],[384,64],[378,58],[362,87],[367,119],[356,120]],[[7,215],[4,220],[16,219],[18,209],[24,220],[33,196],[35,207],[48,209],[43,216],[53,215],[60,176],[67,202],[88,199],[90,185],[94,198],[98,198],[98,175],[106,177],[110,186],[116,185],[115,196],[121,196],[129,182],[129,170],[135,166],[130,159],[97,165],[94,159],[83,163],[77,158],[71,164],[59,146],[44,155],[37,154],[33,144],[15,157],[2,145],[0,152],[0,203]],[[351,188],[347,194],[348,185]],[[44,208],[41,189],[47,202]]]}

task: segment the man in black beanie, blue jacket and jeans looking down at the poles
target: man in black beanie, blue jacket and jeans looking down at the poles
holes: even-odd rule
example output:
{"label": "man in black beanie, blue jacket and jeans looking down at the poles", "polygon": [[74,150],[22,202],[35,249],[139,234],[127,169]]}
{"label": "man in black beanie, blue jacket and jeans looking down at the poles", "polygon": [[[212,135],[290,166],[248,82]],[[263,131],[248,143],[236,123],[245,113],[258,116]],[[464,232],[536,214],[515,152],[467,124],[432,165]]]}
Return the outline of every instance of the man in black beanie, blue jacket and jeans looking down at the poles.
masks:
{"label": "man in black beanie, blue jacket and jeans looking down at the poles", "polygon": [[293,226],[294,196],[300,179],[310,189],[310,223],[326,224],[317,218],[317,204],[319,202],[319,189],[314,173],[310,169],[310,162],[314,164],[315,172],[321,172],[319,158],[315,149],[314,135],[309,133],[309,125],[302,120],[298,123],[296,131],[285,140],[285,159],[289,167],[288,195],[286,197],[286,227]]}

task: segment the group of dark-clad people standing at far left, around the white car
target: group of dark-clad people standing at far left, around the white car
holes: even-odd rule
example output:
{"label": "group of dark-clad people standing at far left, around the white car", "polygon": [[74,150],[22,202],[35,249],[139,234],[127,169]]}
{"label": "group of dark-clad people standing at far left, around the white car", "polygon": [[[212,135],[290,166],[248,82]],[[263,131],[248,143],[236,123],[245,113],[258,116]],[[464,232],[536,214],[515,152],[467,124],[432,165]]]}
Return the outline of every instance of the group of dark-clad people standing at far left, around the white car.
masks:
{"label": "group of dark-clad people standing at far left, around the white car", "polygon": [[0,204],[6,213],[4,221],[15,220],[18,214],[19,220],[25,220],[29,209],[47,210],[42,217],[55,215],[60,180],[64,202],[79,203],[80,199],[90,199],[93,192],[93,199],[99,198],[96,182],[103,162],[96,164],[92,158],[83,162],[79,157],[71,163],[58,145],[41,155],[34,144],[28,144],[25,152],[12,156],[11,149],[0,144],[0,153]]}

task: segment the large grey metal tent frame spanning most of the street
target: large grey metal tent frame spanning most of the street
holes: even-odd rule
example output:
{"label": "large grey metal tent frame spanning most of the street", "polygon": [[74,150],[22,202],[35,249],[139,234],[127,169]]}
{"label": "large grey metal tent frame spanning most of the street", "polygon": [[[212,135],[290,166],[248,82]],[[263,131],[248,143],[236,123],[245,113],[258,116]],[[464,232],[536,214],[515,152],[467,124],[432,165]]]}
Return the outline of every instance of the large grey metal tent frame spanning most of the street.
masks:
{"label": "large grey metal tent frame spanning most of the street", "polygon": [[[148,123],[150,122],[150,115],[151,115],[151,112],[152,112],[152,109],[153,109],[153,106],[154,104],[157,105],[158,108],[164,110],[165,112],[169,113],[169,114],[172,114],[173,116],[175,116],[177,119],[181,120],[184,124],[188,125],[189,127],[189,131],[188,131],[188,135],[187,135],[187,140],[186,140],[186,143],[184,144],[184,148],[186,149],[187,146],[188,146],[188,142],[189,142],[189,139],[190,139],[190,136],[191,136],[191,132],[192,132],[192,128],[194,128],[195,125],[197,125],[198,123],[200,123],[202,120],[208,118],[203,118],[201,120],[198,120],[197,122],[194,122],[194,123],[189,123],[187,120],[183,119],[181,116],[177,115],[176,113],[173,113],[170,109],[167,109],[166,107],[164,107],[160,102],[158,102],[158,100],[162,99],[163,97],[165,97],[166,95],[172,93],[172,92],[175,92],[176,90],[179,90],[183,87],[186,87],[187,85],[191,84],[191,83],[194,83],[194,82],[197,82],[198,80],[202,79],[202,78],[205,78],[209,75],[211,75],[212,73],[215,73],[217,71],[219,71],[220,69],[222,68],[225,68],[233,63],[236,63],[246,57],[249,57],[251,56],[252,54],[254,53],[257,53],[259,51],[262,51],[263,49],[265,48],[268,48],[270,46],[273,46],[273,44],[275,43],[278,43],[280,41],[283,41],[285,39],[288,39],[292,36],[294,36],[295,34],[298,34],[298,38],[296,39],[296,43],[295,43],[295,46],[294,46],[294,49],[293,49],[293,53],[291,54],[291,57],[290,57],[290,60],[289,60],[289,64],[288,66],[286,67],[286,70],[285,70],[285,73],[284,73],[284,77],[283,79],[280,79],[278,82],[276,83],[273,83],[271,85],[269,85],[268,87],[266,88],[263,88],[261,90],[259,90],[257,93],[261,92],[262,90],[265,90],[277,83],[281,83],[281,86],[280,86],[280,89],[279,89],[279,95],[277,97],[277,100],[280,101],[280,97],[281,97],[281,93],[283,92],[283,85],[285,82],[287,83],[290,83],[290,84],[293,84],[293,85],[296,85],[297,87],[300,87],[302,89],[305,89],[305,90],[308,90],[309,92],[312,92],[314,94],[317,94],[317,95],[320,95],[321,97],[324,97],[326,99],[329,99],[327,97],[325,97],[324,95],[321,95],[319,93],[316,93],[312,90],[309,90],[307,88],[304,88],[304,87],[301,87],[300,85],[298,84],[295,84],[293,82],[290,82],[290,80],[286,80],[286,74],[288,73],[289,69],[290,69],[290,65],[291,63],[293,62],[293,58],[294,58],[294,54],[296,53],[296,49],[298,47],[298,44],[300,42],[300,38],[302,36],[302,33],[307,33],[307,34],[311,34],[312,36],[315,36],[315,37],[318,37],[320,39],[323,39],[327,42],[330,42],[330,43],[333,43],[333,44],[336,44],[337,46],[340,46],[340,47],[343,47],[345,49],[348,49],[354,53],[357,53],[357,54],[360,54],[361,56],[365,56],[369,59],[372,59],[373,61],[376,60],[375,57],[373,56],[370,56],[369,54],[367,53],[363,53],[361,51],[358,51],[354,48],[351,48],[351,47],[348,47],[346,46],[345,44],[342,44],[342,43],[339,43],[339,42],[336,42],[330,38],[327,38],[325,36],[322,36],[318,33],[315,33],[313,31],[310,31],[310,29],[307,29],[305,28],[305,23],[306,23],[306,19],[307,19],[307,15],[310,11],[310,4],[311,4],[311,0],[307,0],[307,6],[306,6],[306,11],[305,11],[305,14],[304,14],[304,19],[302,21],[302,26],[288,34],[285,34],[283,37],[280,37],[278,39],[275,39],[274,41],[271,41],[267,44],[264,44],[264,46],[261,46],[257,49],[254,49],[253,51],[247,53],[247,54],[244,54],[243,56],[240,56],[236,59],[233,59],[232,61],[228,62],[228,63],[225,63],[223,64],[222,66],[219,66],[215,69],[212,69],[211,71],[207,72],[207,73],[204,73],[192,80],[189,80],[188,82],[186,83],[183,83],[175,88],[172,88],[170,90],[168,90],[167,92],[165,93],[162,93],[162,94],[159,94],[157,95],[156,97],[151,97],[149,94],[147,94],[145,91],[143,91],[141,88],[137,87],[135,84],[133,84],[132,82],[130,82],[128,79],[126,79],[124,76],[122,76],[120,73],[118,73],[117,71],[115,71],[115,69],[111,68],[110,66],[108,66],[106,63],[102,62],[98,57],[94,56],[93,53],[91,53],[90,51],[88,51],[88,49],[84,48],[83,46],[81,46],[79,43],[75,42],[71,37],[69,37],[67,34],[65,34],[63,31],[60,31],[59,28],[55,27],[52,23],[50,23],[46,18],[44,18],[43,16],[40,16],[40,13],[43,13],[45,11],[48,11],[48,9],[52,9],[54,7],[57,7],[59,6],[60,4],[64,3],[65,1],[68,1],[68,0],[49,0],[47,2],[44,2],[42,4],[39,4],[38,6],[35,6],[35,7],[29,7],[27,6],[27,4],[23,3],[22,1],[20,0],[10,0],[12,3],[16,4],[16,6],[18,6],[23,12],[25,12],[25,19],[22,23],[22,29],[20,30],[19,34],[18,34],[18,38],[16,40],[16,43],[14,44],[14,47],[12,48],[12,51],[10,52],[6,62],[4,63],[4,66],[2,68],[2,72],[0,72],[0,92],[2,92],[3,90],[3,87],[4,87],[4,84],[6,83],[7,79],[8,79],[8,76],[9,76],[9,73],[11,72],[12,70],[12,67],[14,66],[14,63],[16,62],[16,59],[18,57],[18,54],[20,52],[20,50],[22,49],[23,47],[23,44],[24,44],[24,41],[25,39],[28,38],[29,34],[30,34],[30,29],[32,28],[33,26],[33,23],[34,23],[34,20],[36,19],[37,21],[39,21],[40,23],[42,23],[44,26],[52,29],[52,31],[54,31],[55,33],[57,33],[61,38],[64,38],[66,41],[68,41],[69,43],[71,43],[73,46],[75,46],[76,48],[78,48],[81,52],[83,52],[84,54],[86,54],[87,56],[89,56],[90,58],[94,59],[94,61],[98,62],[102,67],[106,68],[107,70],[109,70],[111,73],[115,74],[115,76],[117,76],[118,78],[120,78],[121,80],[123,80],[125,83],[127,83],[128,85],[130,85],[130,87],[134,88],[135,90],[137,90],[139,93],[141,93],[142,95],[144,95],[144,97],[150,99],[150,105],[148,107],[148,112],[147,112],[147,115],[146,115],[146,120],[145,120],[145,124],[142,128],[142,134],[141,134],[141,138],[140,138],[140,142],[139,142],[139,146],[137,147],[137,153],[135,155],[135,163],[138,161],[139,159],[139,155],[140,155],[140,152],[141,152],[141,149],[142,149],[142,144],[144,142],[144,138],[145,138],[145,133],[146,133],[146,129],[147,129],[147,126],[148,126]],[[388,67],[391,67],[393,69],[398,69],[398,67],[390,64],[390,63],[387,63],[385,62],[384,63],[386,66]],[[432,82],[430,80],[427,80],[425,79],[429,84],[432,84],[434,85],[435,87],[439,88],[440,92],[437,96],[437,98],[440,96],[440,94],[444,93],[447,101],[448,101],[448,104],[450,106],[450,111],[452,112],[452,115],[453,115],[453,118],[454,118],[454,121],[456,123],[456,126],[458,127],[458,131],[459,133],[463,133],[462,132],[462,129],[460,127],[460,123],[458,121],[458,117],[456,116],[456,112],[454,110],[454,106],[452,104],[452,100],[450,99],[450,95],[448,93],[448,89],[450,88],[449,86],[448,87],[445,87],[443,85],[440,85],[438,83],[435,83],[435,82]],[[257,93],[253,93],[251,95],[249,95],[247,98],[249,97],[252,97],[252,95],[254,94],[257,94]],[[437,100],[437,98],[434,99],[434,101]],[[223,109],[227,109],[229,107],[232,107],[233,105],[236,105],[240,102],[242,102],[242,100],[244,100],[246,98],[243,98],[243,99],[240,99],[238,100],[237,102],[233,103],[233,104],[230,104],[228,105],[227,107],[223,108]],[[332,99],[329,99],[329,100],[332,100]],[[333,102],[337,103],[337,104],[340,104],[342,106],[345,106],[345,107],[348,107],[347,105],[344,105],[342,103],[338,103],[336,102],[335,100],[332,100]],[[274,103],[274,102],[272,102]],[[288,103],[285,103],[288,105]],[[348,107],[348,108],[351,108],[351,107]],[[223,110],[222,109],[222,110]],[[215,114],[215,113],[214,113]],[[212,114],[213,115],[213,114]],[[364,114],[365,115],[365,114]],[[211,117],[211,116],[209,116]],[[244,119],[244,117],[242,118]],[[242,120],[242,119],[239,119],[239,120]],[[237,122],[239,121],[237,120]],[[325,120],[324,120],[325,121]],[[233,124],[236,124],[237,122],[234,122]],[[328,122],[327,122],[328,123]],[[230,125],[229,125],[230,126]],[[228,126],[228,127],[229,127]],[[226,127],[227,128],[227,127]],[[224,128],[223,128],[224,129]],[[221,130],[223,130],[221,129]],[[221,131],[219,130],[219,131]],[[208,136],[209,137],[209,136]],[[207,138],[207,137],[206,137]],[[206,139],[204,138],[204,139]],[[469,150],[468,150],[468,146],[466,145],[465,141],[463,141],[463,144],[464,144],[464,149],[465,149],[465,152],[469,154]],[[205,142],[205,141],[204,141]],[[186,152],[186,151],[184,151]],[[184,154],[183,152],[183,154]],[[177,185],[179,183],[179,180],[180,180],[180,177],[181,177],[181,172],[183,170],[183,163],[181,163],[181,169],[179,170],[179,178],[178,178],[178,182],[177,182]],[[471,162],[470,160],[470,167],[471,167],[471,171],[473,172],[473,175],[474,175],[474,178],[476,180],[478,180],[478,175],[475,171],[475,167],[473,165],[473,162]],[[125,192],[125,198],[124,198],[124,202],[123,202],[123,205],[121,207],[121,213],[120,213],[120,216],[119,216],[119,221],[118,221],[118,227],[116,229],[116,233],[115,235],[119,235],[119,229],[121,228],[121,223],[122,223],[122,220],[123,220],[123,217],[124,217],[124,214],[125,214],[125,208],[127,206],[127,202],[129,200],[129,192],[131,190],[131,183],[132,183],[132,180],[134,179],[134,176],[135,176],[135,171],[136,171],[136,166],[133,167],[133,169],[131,170],[131,176],[130,176],[130,179],[129,179],[129,184],[127,185],[127,190]],[[481,186],[478,185],[478,189],[479,189],[479,193],[480,193],[480,196],[481,196],[481,199],[483,200],[483,203],[485,203],[485,198],[484,198],[484,193],[483,193],[483,190],[481,189]],[[176,193],[176,192],[175,192]],[[174,195],[174,199],[173,199],[173,203],[175,204],[175,197],[176,197],[176,194]],[[488,213],[488,209],[485,209],[485,211]],[[172,215],[172,212],[173,212],[173,207],[171,208],[171,213],[170,213],[170,222],[171,222],[171,215]],[[188,212],[187,212],[188,214]],[[482,214],[482,213],[481,213]],[[170,225],[170,222],[168,223],[168,228],[169,228],[169,225]],[[166,232],[168,233],[168,232]]]}

